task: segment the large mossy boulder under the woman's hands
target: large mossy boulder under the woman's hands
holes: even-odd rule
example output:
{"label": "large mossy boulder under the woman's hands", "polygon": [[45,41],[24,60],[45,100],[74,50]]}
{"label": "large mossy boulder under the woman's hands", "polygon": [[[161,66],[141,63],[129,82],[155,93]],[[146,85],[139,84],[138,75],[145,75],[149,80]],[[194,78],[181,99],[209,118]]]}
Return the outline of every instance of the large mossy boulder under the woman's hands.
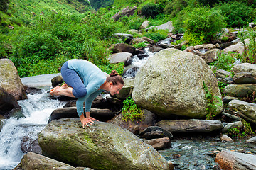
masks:
{"label": "large mossy boulder under the woman's hands", "polygon": [[92,169],[169,169],[166,159],[131,132],[111,123],[82,128],[79,118],[53,120],[38,134],[43,152]]}

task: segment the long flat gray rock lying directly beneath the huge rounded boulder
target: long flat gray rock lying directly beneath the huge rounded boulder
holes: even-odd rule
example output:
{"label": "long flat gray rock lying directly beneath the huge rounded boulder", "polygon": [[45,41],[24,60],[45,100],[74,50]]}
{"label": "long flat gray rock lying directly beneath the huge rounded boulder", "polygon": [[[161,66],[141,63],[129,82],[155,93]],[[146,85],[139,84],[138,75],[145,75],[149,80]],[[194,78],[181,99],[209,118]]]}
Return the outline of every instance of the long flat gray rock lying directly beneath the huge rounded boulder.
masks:
{"label": "long flat gray rock lying directly beneath the huge rounded boulder", "polygon": [[169,132],[213,132],[223,128],[220,120],[161,120],[156,126]]}

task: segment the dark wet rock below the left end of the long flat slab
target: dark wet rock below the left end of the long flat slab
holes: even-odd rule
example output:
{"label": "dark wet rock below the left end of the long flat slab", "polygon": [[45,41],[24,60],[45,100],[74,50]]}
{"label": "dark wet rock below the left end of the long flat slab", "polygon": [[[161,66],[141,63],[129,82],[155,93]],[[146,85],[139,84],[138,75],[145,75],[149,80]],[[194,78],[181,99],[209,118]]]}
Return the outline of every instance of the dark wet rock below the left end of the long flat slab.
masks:
{"label": "dark wet rock below the left end of the long flat slab", "polygon": [[171,139],[173,137],[171,132],[158,126],[149,126],[142,130],[142,132],[139,133],[139,136],[147,140],[162,137],[169,137]]}

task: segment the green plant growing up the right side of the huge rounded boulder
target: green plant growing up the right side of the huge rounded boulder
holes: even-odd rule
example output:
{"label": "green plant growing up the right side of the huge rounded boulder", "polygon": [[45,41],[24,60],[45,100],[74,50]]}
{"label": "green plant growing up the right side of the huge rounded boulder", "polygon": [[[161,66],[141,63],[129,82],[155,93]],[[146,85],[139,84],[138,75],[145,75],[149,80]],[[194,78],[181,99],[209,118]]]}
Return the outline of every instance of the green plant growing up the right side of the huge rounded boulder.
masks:
{"label": "green plant growing up the right side of the huge rounded boulder", "polygon": [[[206,91],[205,96],[206,96],[206,100],[207,100],[207,103],[206,103],[206,112],[207,112],[206,119],[210,120],[210,119],[213,119],[216,116],[217,108],[218,108],[218,106],[221,106],[222,100],[218,96],[213,96],[213,93],[211,93],[208,90],[208,87],[206,86],[206,83],[204,81],[203,81],[203,89]],[[217,100],[217,102],[215,102],[216,100]]]}

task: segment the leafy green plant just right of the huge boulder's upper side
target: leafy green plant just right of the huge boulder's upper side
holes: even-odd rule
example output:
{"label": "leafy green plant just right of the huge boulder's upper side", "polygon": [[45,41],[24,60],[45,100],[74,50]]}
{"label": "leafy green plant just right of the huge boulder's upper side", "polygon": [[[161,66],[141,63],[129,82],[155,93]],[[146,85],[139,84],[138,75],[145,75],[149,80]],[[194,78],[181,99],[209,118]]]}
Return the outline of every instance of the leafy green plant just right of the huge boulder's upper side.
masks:
{"label": "leafy green plant just right of the huge boulder's upper side", "polygon": [[225,71],[230,72],[232,68],[232,64],[235,62],[235,57],[231,53],[224,53],[219,52],[218,53],[218,60],[211,63],[211,65],[214,65],[216,69],[224,69]]}

